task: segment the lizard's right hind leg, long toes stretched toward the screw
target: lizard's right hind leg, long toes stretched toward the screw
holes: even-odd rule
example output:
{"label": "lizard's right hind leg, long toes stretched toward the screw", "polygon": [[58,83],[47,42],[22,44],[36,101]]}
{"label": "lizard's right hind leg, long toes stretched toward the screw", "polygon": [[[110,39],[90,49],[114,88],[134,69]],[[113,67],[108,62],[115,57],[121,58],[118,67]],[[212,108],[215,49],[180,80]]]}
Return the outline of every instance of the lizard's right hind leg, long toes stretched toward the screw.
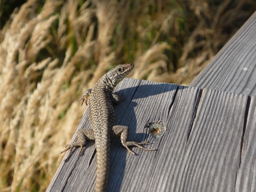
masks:
{"label": "lizard's right hind leg, long toes stretched toward the screw", "polygon": [[123,125],[115,125],[115,126],[113,126],[113,128],[112,128],[112,130],[110,132],[110,136],[111,137],[115,137],[115,138],[116,137],[121,137],[121,142],[122,142],[123,146],[126,147],[127,150],[129,152],[131,152],[132,154],[134,154],[134,152],[132,150],[130,150],[128,148],[128,146],[137,146],[139,148],[142,148],[142,149],[148,150],[148,151],[157,150],[155,148],[148,149],[148,148],[145,148],[145,147],[141,146],[141,145],[144,145],[146,143],[149,143],[148,141],[141,142],[141,143],[134,142],[134,141],[128,141],[129,140],[129,136],[130,136],[130,130],[129,130],[128,126],[123,126]]}

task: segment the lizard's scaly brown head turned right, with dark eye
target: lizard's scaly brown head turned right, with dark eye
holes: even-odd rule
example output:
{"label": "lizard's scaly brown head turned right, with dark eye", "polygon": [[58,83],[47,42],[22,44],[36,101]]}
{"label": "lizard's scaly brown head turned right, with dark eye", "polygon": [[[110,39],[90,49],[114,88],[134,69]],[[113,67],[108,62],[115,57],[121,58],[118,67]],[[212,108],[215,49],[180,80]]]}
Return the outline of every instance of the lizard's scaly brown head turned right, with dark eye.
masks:
{"label": "lizard's scaly brown head turned right, with dark eye", "polygon": [[110,79],[113,87],[115,87],[120,81],[122,81],[132,71],[133,68],[134,68],[133,63],[120,64],[116,66],[114,69],[107,72],[106,75]]}

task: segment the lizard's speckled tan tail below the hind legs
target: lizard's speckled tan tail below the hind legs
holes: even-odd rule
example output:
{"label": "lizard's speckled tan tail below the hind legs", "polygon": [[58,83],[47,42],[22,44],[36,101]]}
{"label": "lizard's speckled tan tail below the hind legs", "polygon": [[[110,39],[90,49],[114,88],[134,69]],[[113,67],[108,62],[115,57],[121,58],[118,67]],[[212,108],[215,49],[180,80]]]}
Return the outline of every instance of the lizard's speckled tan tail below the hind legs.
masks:
{"label": "lizard's speckled tan tail below the hind legs", "polygon": [[108,183],[110,139],[96,139],[97,178],[95,192],[104,192]]}

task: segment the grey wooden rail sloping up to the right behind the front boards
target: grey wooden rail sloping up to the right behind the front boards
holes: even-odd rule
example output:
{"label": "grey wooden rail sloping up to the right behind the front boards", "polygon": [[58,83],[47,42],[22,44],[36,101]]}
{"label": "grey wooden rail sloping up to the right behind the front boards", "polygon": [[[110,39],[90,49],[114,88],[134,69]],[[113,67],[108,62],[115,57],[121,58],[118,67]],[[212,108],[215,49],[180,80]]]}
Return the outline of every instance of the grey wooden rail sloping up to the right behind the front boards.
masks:
{"label": "grey wooden rail sloping up to the right behind the front boards", "polygon": [[191,86],[256,95],[256,12]]}

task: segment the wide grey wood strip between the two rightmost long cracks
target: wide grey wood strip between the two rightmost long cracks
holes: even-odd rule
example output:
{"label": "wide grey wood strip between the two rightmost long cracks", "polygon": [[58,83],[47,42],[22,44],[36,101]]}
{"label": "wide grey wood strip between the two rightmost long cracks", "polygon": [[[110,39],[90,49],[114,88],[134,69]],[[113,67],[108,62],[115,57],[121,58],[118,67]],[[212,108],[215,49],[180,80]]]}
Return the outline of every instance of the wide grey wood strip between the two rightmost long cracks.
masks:
{"label": "wide grey wood strip between the two rightmost long cracks", "polygon": [[204,89],[168,191],[234,191],[248,96]]}

